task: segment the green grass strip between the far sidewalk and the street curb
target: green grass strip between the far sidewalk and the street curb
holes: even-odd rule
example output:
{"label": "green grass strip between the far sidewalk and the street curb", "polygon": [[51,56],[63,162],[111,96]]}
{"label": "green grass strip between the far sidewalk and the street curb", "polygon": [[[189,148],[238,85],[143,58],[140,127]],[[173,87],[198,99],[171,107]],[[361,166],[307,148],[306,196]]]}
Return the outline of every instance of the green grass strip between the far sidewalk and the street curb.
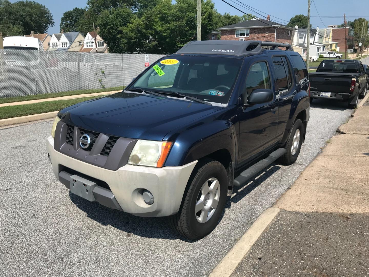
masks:
{"label": "green grass strip between the far sidewalk and the street curb", "polygon": [[76,98],[76,99],[69,99],[69,100],[55,100],[55,101],[40,102],[40,103],[34,103],[34,104],[0,107],[0,119],[6,119],[6,118],[18,117],[18,116],[27,116],[27,115],[38,114],[38,113],[55,112],[65,107],[68,107],[70,105],[74,105],[76,103],[98,98],[98,97],[102,97],[102,96],[101,95],[100,96],[90,96],[90,97],[83,97],[83,98]]}

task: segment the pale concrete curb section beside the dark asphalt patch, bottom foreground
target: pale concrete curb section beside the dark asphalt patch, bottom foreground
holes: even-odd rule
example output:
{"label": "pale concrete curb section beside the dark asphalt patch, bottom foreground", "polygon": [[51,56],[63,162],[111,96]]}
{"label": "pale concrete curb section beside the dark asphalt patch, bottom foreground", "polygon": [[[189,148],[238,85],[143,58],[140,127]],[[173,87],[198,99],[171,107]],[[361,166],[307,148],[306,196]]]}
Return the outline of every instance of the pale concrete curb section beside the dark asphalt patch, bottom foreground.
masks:
{"label": "pale concrete curb section beside the dark asphalt patch, bottom foreground", "polygon": [[208,277],[231,276],[232,272],[250,250],[251,246],[258,240],[259,236],[269,226],[278,212],[279,208],[271,207],[259,215],[255,222],[252,223],[251,227],[223,257]]}

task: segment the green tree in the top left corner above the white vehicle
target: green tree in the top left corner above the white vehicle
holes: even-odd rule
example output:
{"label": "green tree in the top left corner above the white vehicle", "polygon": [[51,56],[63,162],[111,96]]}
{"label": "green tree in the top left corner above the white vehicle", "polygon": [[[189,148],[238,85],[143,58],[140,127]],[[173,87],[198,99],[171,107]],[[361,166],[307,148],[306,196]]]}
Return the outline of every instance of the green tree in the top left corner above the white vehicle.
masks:
{"label": "green tree in the top left corner above the white vehicle", "polygon": [[0,0],[0,32],[4,36],[46,33],[54,25],[51,12],[35,1]]}

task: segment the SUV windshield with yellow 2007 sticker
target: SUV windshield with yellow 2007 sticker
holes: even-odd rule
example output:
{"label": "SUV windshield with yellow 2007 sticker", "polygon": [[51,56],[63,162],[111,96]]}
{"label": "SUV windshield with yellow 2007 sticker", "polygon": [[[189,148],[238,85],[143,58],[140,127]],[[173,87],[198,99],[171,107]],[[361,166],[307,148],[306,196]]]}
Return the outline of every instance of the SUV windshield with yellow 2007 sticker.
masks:
{"label": "SUV windshield with yellow 2007 sticker", "polygon": [[154,64],[128,89],[177,92],[201,100],[228,103],[242,59],[180,56]]}

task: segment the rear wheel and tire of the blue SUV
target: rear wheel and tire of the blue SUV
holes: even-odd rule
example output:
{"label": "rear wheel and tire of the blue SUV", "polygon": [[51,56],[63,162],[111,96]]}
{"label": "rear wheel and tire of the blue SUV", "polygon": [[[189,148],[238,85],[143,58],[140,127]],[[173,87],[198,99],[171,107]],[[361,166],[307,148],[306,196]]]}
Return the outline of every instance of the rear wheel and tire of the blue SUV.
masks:
{"label": "rear wheel and tire of the blue SUV", "polygon": [[300,119],[296,119],[290,130],[286,145],[284,146],[287,152],[279,158],[280,163],[290,165],[297,160],[297,157],[299,157],[300,154],[303,134],[304,125]]}

